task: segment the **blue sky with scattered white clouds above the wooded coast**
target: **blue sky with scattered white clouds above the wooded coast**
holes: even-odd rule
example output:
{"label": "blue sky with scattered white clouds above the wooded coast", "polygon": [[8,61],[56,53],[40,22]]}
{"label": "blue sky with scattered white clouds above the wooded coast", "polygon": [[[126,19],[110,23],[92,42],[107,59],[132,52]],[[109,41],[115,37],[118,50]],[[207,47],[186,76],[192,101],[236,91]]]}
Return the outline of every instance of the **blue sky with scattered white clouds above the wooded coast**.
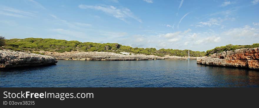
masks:
{"label": "blue sky with scattered white clouds above the wooded coast", "polygon": [[259,0],[1,0],[0,35],[206,51],[259,42]]}

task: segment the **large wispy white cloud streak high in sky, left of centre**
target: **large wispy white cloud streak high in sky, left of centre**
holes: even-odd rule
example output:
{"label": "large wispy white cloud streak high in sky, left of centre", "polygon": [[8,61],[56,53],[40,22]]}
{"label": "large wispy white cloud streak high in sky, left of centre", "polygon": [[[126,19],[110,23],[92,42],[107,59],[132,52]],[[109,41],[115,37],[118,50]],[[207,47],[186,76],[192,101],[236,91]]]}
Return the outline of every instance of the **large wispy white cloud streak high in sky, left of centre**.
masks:
{"label": "large wispy white cloud streak high in sky, left of centre", "polygon": [[81,9],[99,10],[99,11],[102,11],[102,12],[112,16],[112,17],[115,17],[115,18],[120,19],[124,22],[127,22],[127,23],[128,23],[128,21],[126,20],[127,18],[133,18],[133,19],[137,20],[138,22],[142,23],[142,20],[139,19],[138,17],[136,17],[131,12],[131,10],[128,9],[128,8],[118,9],[115,6],[92,6],[92,5],[83,5],[83,4],[80,4],[78,7],[81,8]]}

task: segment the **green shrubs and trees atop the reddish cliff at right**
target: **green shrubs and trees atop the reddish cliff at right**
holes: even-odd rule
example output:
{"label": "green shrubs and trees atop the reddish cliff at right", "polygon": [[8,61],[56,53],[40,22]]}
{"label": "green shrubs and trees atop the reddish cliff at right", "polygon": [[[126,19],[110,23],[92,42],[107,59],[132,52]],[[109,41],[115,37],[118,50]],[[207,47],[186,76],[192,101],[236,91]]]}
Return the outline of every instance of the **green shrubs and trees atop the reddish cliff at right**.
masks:
{"label": "green shrubs and trees atop the reddish cliff at right", "polygon": [[226,46],[221,46],[221,47],[216,47],[212,50],[207,50],[206,55],[210,56],[213,53],[221,53],[223,51],[230,51],[230,50],[236,50],[236,49],[241,49],[241,48],[257,48],[259,47],[259,43],[254,43],[253,45],[226,45]]}

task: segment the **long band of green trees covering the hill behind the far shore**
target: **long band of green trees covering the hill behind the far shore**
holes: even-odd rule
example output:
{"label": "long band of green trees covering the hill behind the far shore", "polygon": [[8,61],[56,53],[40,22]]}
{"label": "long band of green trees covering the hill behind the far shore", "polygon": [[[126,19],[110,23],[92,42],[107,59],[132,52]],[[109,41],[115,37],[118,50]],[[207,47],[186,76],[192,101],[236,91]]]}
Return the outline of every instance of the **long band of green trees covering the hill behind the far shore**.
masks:
{"label": "long band of green trees covering the hill behind the far shore", "polygon": [[[33,53],[39,53],[37,51],[50,51],[50,52],[70,52],[70,51],[98,51],[98,52],[129,52],[133,54],[145,54],[145,55],[175,55],[175,56],[188,56],[188,50],[173,50],[173,49],[160,49],[156,48],[132,48],[130,46],[124,46],[117,43],[93,43],[93,42],[79,42],[79,41],[67,41],[57,39],[42,39],[42,38],[25,38],[25,39],[9,39],[5,40],[6,44],[4,49],[10,49],[15,51],[31,51]],[[205,52],[191,51],[190,56],[200,57],[205,56]]]}

